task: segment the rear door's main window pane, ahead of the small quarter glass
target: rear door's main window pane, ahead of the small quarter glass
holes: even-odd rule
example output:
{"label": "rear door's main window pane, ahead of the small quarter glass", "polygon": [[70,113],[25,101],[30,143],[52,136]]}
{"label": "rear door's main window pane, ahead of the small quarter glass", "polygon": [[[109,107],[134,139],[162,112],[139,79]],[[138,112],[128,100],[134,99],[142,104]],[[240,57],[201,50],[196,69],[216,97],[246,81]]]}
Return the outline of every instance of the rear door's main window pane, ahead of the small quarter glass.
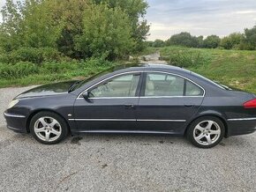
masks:
{"label": "rear door's main window pane, ahead of the small quarter glass", "polygon": [[147,73],[145,96],[183,95],[184,78],[164,73]]}

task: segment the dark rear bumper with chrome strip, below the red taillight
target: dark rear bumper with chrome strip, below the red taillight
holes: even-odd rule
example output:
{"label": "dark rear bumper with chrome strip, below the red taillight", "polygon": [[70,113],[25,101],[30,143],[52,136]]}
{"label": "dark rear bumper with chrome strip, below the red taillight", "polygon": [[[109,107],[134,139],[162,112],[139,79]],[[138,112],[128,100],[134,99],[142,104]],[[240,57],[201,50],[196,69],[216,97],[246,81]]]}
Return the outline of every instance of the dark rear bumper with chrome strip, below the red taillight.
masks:
{"label": "dark rear bumper with chrome strip, below the red taillight", "polygon": [[229,128],[228,137],[250,134],[256,131],[256,117],[228,119],[227,123]]}

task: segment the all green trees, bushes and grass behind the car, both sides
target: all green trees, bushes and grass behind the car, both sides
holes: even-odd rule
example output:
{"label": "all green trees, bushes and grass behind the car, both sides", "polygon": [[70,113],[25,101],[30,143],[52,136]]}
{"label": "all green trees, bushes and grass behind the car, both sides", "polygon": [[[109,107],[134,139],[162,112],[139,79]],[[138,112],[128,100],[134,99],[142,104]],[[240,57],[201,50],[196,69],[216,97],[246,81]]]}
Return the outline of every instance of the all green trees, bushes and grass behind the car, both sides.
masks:
{"label": "all green trees, bushes and grass behind the car, both sides", "polygon": [[147,6],[146,0],[6,0],[0,87],[87,78],[129,55],[136,63],[159,50],[169,64],[256,93],[256,26],[224,38],[183,32],[146,41]]}

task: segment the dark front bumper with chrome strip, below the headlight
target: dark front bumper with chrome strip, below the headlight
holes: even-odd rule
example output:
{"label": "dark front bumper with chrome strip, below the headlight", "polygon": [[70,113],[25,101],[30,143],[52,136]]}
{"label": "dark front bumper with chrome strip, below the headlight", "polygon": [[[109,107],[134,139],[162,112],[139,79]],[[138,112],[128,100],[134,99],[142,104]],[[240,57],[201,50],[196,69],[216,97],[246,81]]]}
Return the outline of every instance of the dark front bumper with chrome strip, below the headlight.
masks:
{"label": "dark front bumper with chrome strip, below the headlight", "polygon": [[22,114],[10,114],[4,112],[4,118],[7,123],[7,128],[19,132],[26,133],[26,116]]}

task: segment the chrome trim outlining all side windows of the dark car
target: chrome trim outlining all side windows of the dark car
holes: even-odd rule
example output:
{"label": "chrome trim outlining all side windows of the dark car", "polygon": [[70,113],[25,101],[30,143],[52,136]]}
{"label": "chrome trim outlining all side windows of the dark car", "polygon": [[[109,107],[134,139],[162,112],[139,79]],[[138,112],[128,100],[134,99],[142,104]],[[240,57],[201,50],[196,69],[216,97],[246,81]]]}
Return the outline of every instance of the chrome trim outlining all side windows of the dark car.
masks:
{"label": "chrome trim outlining all side windows of the dark car", "polygon": [[[184,78],[185,80],[190,81],[192,84],[197,85],[200,87],[200,89],[203,90],[203,95],[195,95],[195,96],[145,96],[142,95],[142,93],[144,94],[145,92],[145,86],[146,86],[146,77],[147,77],[147,73],[151,72],[151,73],[162,73],[162,74],[169,74],[169,75],[173,75],[173,76],[177,76],[179,78]],[[136,74],[136,73],[140,73],[139,76],[139,83],[138,83],[138,87],[136,90],[136,95],[138,94],[138,96],[134,96],[134,97],[101,97],[101,98],[89,98],[90,100],[109,100],[109,99],[154,99],[154,98],[203,98],[206,95],[206,90],[199,84],[195,83],[194,81],[192,81],[190,78],[185,78],[182,75],[179,74],[175,74],[172,72],[166,72],[166,71],[161,71],[161,70],[132,70],[132,71],[127,71],[127,72],[123,72],[123,73],[118,73],[115,75],[110,76],[109,78],[104,78],[101,81],[95,83],[94,85],[89,86],[87,89],[85,89],[84,91],[79,93],[79,96],[77,97],[76,100],[84,100],[84,98],[81,96],[84,92],[87,92],[89,89],[94,88],[94,86],[102,84],[103,82],[111,79],[111,78],[116,78],[118,76],[122,76],[125,74]]]}

